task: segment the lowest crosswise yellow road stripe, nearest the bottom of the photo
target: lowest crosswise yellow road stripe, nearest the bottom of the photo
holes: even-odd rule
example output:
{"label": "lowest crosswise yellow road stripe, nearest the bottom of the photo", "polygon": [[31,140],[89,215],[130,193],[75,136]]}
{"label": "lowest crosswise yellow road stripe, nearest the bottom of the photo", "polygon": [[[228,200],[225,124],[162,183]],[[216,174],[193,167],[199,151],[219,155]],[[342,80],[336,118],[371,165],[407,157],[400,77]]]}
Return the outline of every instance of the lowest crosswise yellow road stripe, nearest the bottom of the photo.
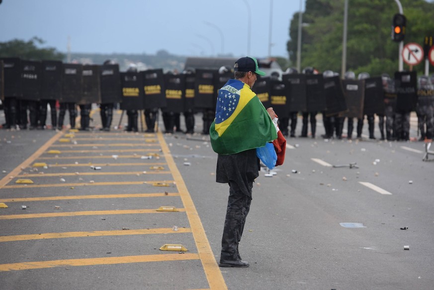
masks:
{"label": "lowest crosswise yellow road stripe, nearest the bottom of the photo", "polygon": [[42,261],[42,262],[1,264],[0,272],[44,269],[44,268],[65,267],[65,266],[75,267],[75,266],[144,263],[144,262],[186,261],[186,260],[198,260],[198,259],[199,259],[199,255],[195,253],[184,253],[182,255],[176,253],[176,254],[160,254],[160,255],[54,260],[54,261]]}

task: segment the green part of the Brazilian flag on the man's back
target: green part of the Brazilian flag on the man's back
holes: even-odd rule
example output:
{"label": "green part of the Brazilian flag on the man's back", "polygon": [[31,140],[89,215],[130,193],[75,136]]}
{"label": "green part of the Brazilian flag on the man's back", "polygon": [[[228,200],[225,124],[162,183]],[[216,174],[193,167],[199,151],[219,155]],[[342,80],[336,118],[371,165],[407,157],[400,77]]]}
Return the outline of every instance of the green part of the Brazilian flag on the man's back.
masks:
{"label": "green part of the Brazilian flag on the man's back", "polygon": [[215,130],[215,120],[209,134],[212,149],[222,155],[262,147],[277,139],[274,124],[257,96],[246,104],[221,136]]}

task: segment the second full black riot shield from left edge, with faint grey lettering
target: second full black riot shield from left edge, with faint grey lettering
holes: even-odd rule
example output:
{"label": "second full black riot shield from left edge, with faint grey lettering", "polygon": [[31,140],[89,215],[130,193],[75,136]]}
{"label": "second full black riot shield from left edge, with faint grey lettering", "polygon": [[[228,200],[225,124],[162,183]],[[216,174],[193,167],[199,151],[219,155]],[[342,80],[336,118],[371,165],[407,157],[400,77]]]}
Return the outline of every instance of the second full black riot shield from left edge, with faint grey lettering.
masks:
{"label": "second full black riot shield from left edge, with faint grey lettering", "polygon": [[21,61],[22,98],[39,100],[41,96],[41,68],[40,61]]}

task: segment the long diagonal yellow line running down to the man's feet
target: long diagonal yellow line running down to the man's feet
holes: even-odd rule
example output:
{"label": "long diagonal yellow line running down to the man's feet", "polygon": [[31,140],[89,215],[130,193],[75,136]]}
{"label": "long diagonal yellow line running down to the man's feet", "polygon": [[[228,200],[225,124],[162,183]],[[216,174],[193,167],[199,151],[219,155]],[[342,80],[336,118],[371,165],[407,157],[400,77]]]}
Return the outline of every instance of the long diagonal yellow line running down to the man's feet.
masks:
{"label": "long diagonal yellow line running down to the man's feet", "polygon": [[176,167],[174,159],[170,154],[169,147],[164,140],[163,134],[158,132],[158,140],[160,141],[161,148],[166,156],[166,161],[174,176],[176,187],[178,188],[179,195],[182,199],[185,212],[190,223],[191,231],[193,233],[194,241],[196,243],[197,252],[199,253],[200,261],[202,262],[205,271],[206,279],[211,289],[227,289],[225,280],[217,265],[214,254],[209,245],[208,238],[206,237],[205,230],[203,229],[202,222],[200,221],[199,214],[188,193],[187,187],[182,179],[179,170]]}

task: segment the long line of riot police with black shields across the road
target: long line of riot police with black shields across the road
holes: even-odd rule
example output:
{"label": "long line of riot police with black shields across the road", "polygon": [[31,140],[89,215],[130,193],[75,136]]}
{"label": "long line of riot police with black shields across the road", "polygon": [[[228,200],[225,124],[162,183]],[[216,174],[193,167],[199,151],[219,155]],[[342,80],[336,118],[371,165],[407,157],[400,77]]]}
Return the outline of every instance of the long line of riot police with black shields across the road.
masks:
{"label": "long line of riot police with black shields across the road", "polygon": [[[424,95],[421,97],[425,101],[424,110],[428,111],[424,114],[428,120],[426,130],[421,130],[421,135],[431,136],[430,108],[432,111],[434,96],[429,86],[432,85],[428,80],[429,85],[418,89],[416,72],[396,72],[394,79],[368,74],[361,74],[358,79],[346,74],[341,79],[336,73],[315,74],[309,68],[302,73],[287,72],[281,79],[261,77],[253,88],[265,107],[273,107],[279,116],[279,127],[286,136],[295,137],[296,122],[301,113],[300,137],[307,137],[309,122],[311,136],[315,137],[315,116],[321,112],[326,131],[322,136],[325,138],[342,138],[345,118],[347,137],[352,137],[354,119],[358,121],[357,137],[360,137],[363,119],[367,116],[369,137],[374,139],[373,118],[376,114],[382,139],[408,140],[410,112],[417,108],[421,95]],[[179,115],[182,113],[186,133],[193,133],[194,114],[202,112],[201,133],[208,134],[214,119],[217,90],[231,78],[231,68],[187,69],[181,74],[164,74],[162,69],[139,72],[133,66],[120,72],[119,66],[111,61],[103,65],[82,65],[3,58],[0,59],[0,88],[4,88],[0,89],[0,96],[4,100],[6,117],[3,127],[19,125],[24,129],[29,121],[29,128],[44,128],[49,104],[53,128],[62,128],[66,110],[74,128],[78,105],[80,128],[87,130],[91,104],[98,103],[101,129],[110,130],[114,104],[120,103],[120,109],[128,116],[127,131],[138,131],[138,113],[143,110],[146,131],[153,132],[161,110],[165,132],[180,131]],[[56,101],[60,104],[59,116]]]}

